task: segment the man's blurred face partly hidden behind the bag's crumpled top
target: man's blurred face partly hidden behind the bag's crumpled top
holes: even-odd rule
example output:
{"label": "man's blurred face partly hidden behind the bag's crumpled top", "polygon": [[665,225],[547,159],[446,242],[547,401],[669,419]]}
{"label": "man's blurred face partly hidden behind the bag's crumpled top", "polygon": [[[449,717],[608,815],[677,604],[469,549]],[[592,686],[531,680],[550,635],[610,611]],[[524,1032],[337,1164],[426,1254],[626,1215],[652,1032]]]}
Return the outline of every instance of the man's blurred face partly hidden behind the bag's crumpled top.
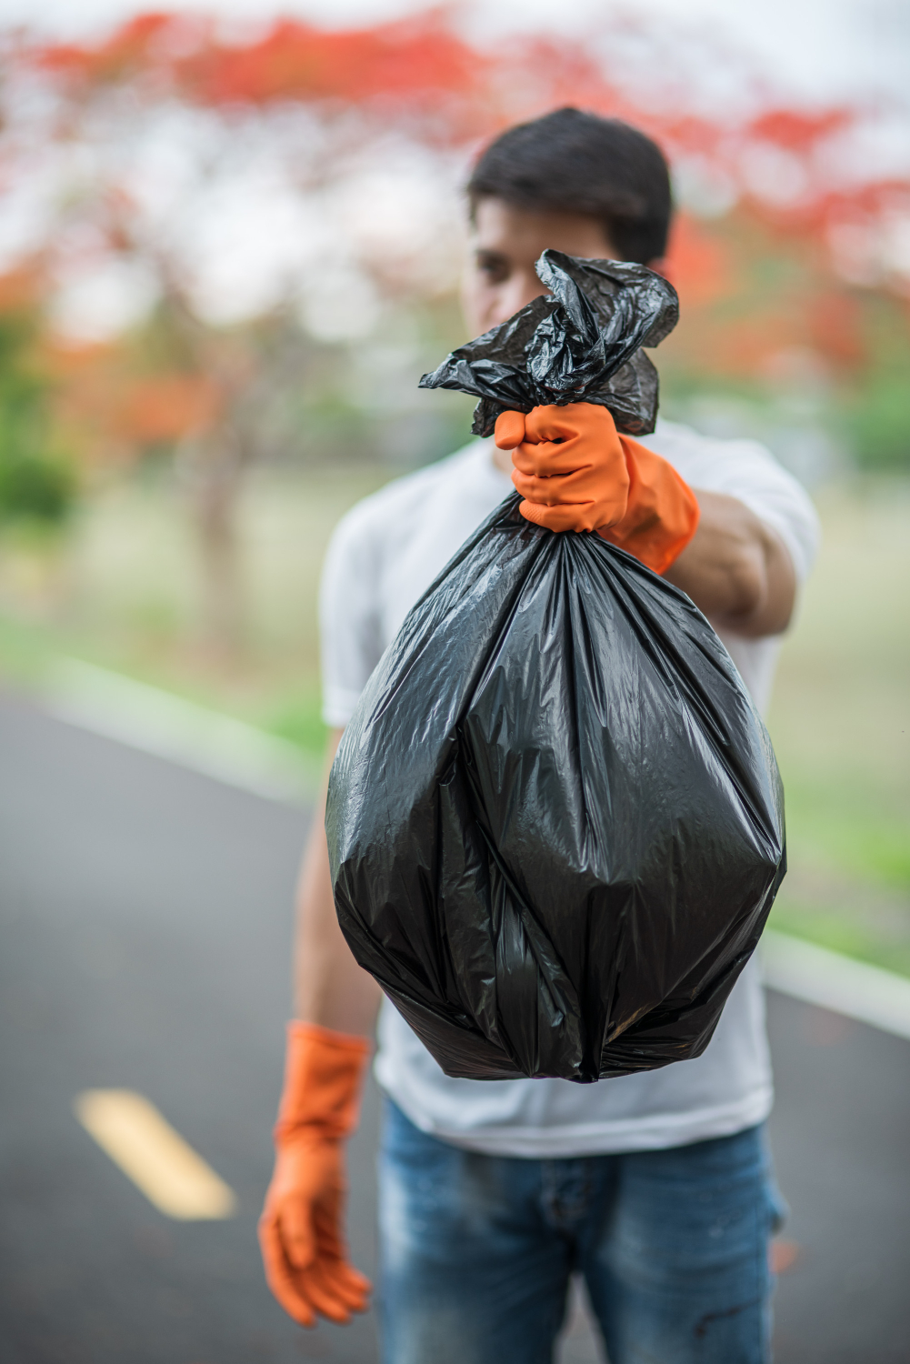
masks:
{"label": "man's blurred face partly hidden behind the bag's crumpled top", "polygon": [[547,293],[533,269],[547,247],[599,261],[618,256],[603,226],[584,213],[536,213],[502,199],[479,201],[461,285],[461,308],[472,337]]}

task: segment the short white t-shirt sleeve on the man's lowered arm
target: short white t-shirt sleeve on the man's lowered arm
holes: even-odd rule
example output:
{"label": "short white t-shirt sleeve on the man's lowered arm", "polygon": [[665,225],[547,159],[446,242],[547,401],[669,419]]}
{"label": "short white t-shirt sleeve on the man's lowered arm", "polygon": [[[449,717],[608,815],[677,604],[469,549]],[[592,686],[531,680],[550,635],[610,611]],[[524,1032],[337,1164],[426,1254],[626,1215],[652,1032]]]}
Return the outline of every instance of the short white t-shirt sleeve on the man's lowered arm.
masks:
{"label": "short white t-shirt sleeve on the man's lowered arm", "polygon": [[322,719],[342,728],[382,653],[379,546],[364,507],[334,529],[319,584]]}

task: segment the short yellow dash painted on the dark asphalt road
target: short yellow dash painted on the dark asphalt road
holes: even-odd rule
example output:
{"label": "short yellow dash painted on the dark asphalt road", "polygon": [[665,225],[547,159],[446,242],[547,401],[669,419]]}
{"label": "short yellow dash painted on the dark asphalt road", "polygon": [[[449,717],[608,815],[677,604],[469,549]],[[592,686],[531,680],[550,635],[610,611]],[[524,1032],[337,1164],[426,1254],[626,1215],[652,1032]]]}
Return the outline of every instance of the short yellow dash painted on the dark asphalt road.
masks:
{"label": "short yellow dash painted on the dark asphalt road", "polygon": [[101,1150],[166,1217],[202,1221],[233,1214],[233,1191],[142,1094],[85,1090],[72,1106]]}

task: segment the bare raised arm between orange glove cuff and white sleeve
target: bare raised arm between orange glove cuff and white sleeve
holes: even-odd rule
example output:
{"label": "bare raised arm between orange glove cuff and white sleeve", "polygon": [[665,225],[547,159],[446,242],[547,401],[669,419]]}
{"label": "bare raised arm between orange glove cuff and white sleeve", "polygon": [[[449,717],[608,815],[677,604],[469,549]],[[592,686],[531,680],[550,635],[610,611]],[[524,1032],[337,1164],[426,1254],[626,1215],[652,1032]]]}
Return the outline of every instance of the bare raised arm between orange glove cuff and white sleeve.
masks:
{"label": "bare raised arm between orange glove cuff and white sleeve", "polygon": [[699,529],[664,578],[720,629],[746,638],[780,634],[797,593],[783,540],[738,498],[693,491],[701,512]]}

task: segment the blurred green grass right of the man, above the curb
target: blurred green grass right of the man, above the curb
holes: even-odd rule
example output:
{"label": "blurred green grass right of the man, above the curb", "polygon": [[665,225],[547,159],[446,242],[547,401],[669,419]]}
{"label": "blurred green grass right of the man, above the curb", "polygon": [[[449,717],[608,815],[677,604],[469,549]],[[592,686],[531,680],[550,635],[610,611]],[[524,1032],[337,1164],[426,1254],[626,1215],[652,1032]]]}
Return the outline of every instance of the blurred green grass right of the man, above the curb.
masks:
{"label": "blurred green grass right of the man, above the curb", "polygon": [[828,488],[819,507],[769,719],[791,865],[774,918],[910,974],[910,487]]}

